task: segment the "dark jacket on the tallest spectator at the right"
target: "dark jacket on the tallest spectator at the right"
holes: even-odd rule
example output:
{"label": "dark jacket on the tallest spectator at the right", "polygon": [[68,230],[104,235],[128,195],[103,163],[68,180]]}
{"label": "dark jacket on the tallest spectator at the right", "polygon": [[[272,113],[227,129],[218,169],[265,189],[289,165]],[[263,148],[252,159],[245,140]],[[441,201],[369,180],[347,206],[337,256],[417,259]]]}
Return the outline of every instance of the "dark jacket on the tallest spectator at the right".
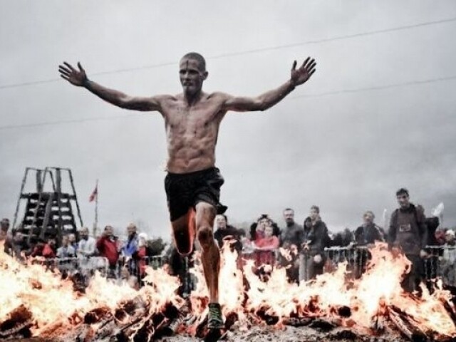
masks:
{"label": "dark jacket on the tallest spectator at the right", "polygon": [[427,227],[423,207],[410,204],[408,209],[395,209],[391,214],[388,243],[405,254],[418,255],[427,244]]}

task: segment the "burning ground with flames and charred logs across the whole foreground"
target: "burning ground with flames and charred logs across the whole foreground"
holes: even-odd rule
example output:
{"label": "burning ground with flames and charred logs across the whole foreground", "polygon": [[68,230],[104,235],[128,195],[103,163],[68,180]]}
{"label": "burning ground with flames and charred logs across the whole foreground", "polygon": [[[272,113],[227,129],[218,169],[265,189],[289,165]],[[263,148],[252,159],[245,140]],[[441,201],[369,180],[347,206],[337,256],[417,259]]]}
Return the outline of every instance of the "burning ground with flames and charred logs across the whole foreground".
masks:
{"label": "burning ground with flames and charred logs across the whole foreground", "polygon": [[[3,250],[3,249],[0,249]],[[346,265],[315,281],[289,284],[285,269],[261,281],[247,263],[225,249],[220,302],[229,341],[453,341],[456,311],[438,284],[420,298],[406,294],[400,279],[410,261],[393,257],[384,245],[372,251],[361,279]],[[37,337],[34,341],[147,341],[171,331],[164,341],[214,339],[205,328],[207,289],[202,269],[194,270],[197,289],[190,303],[176,294],[179,282],[164,269],[148,269],[139,291],[95,275],[84,294],[71,281],[20,264],[0,254],[0,338]],[[33,341],[33,340],[30,340]]]}

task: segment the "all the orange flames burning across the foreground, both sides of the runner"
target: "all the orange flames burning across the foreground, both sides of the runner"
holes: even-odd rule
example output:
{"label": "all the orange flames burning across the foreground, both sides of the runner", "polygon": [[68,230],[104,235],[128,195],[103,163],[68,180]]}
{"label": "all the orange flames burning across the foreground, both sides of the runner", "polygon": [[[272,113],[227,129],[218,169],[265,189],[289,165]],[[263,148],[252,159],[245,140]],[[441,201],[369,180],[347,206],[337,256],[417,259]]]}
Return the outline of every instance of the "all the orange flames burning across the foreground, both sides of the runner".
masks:
{"label": "all the orange flames burning across the foreground, both sides of the runner", "polygon": [[[423,286],[419,298],[407,294],[400,281],[410,269],[410,261],[403,256],[393,257],[384,244],[377,244],[371,255],[360,279],[353,279],[347,265],[339,264],[332,273],[298,285],[286,281],[285,269],[271,269],[266,281],[254,274],[253,261],[239,269],[236,252],[224,247],[219,276],[223,314],[234,315],[241,326],[264,321],[265,317],[271,318],[269,323],[281,326],[290,317],[338,316],[341,326],[370,331],[373,320],[387,317],[390,311],[392,321],[403,319],[424,333],[456,337],[456,311],[450,293],[441,284],[432,294]],[[198,260],[195,264],[192,272],[197,278],[197,289],[190,294],[190,314],[196,319],[193,326],[187,327],[193,333],[207,312],[202,265]],[[146,285],[138,291],[95,274],[82,294],[73,289],[71,281],[62,280],[57,271],[45,271],[43,266],[30,262],[21,264],[0,247],[0,323],[11,319],[11,313],[22,307],[31,313],[30,330],[34,336],[66,333],[82,324],[89,324],[95,336],[109,317],[112,324],[124,326],[123,331],[132,341],[136,334],[147,341],[170,321],[166,311],[182,311],[186,301],[176,294],[179,281],[165,269],[148,268],[146,274]],[[348,314],[338,315],[339,308],[346,308]],[[86,316],[90,313],[95,316],[91,321]],[[403,318],[398,318],[400,315]]]}

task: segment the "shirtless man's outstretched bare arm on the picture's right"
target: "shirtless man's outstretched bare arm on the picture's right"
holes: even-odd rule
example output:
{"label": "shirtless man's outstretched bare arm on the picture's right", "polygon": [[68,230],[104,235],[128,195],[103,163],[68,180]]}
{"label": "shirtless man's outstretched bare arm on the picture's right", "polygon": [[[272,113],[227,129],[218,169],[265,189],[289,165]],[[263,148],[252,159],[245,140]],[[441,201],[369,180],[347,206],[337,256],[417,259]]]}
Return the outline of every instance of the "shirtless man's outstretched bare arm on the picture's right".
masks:
{"label": "shirtless man's outstretched bare arm on the picture's right", "polygon": [[286,95],[291,93],[296,86],[301,86],[301,84],[309,80],[315,72],[316,62],[310,57],[306,58],[306,61],[304,61],[300,68],[296,69],[296,64],[296,61],[294,61],[289,81],[286,81],[286,83],[279,88],[269,90],[256,98],[227,95],[223,109],[246,112],[271,108],[276,103],[279,103]]}

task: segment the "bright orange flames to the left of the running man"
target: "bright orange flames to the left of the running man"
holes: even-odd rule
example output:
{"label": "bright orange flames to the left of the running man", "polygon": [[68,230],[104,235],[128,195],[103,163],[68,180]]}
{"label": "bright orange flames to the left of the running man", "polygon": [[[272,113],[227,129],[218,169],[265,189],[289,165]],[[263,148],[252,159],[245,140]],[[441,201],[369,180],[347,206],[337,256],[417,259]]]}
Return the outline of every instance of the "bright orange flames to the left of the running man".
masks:
{"label": "bright orange flames to the left of the running man", "polygon": [[[98,272],[90,280],[85,294],[73,289],[73,283],[61,278],[58,271],[46,270],[41,264],[28,261],[21,264],[4,253],[0,245],[0,322],[9,313],[24,306],[33,316],[34,336],[48,326],[71,327],[75,317],[98,308],[114,313],[121,303],[140,298],[152,303],[151,311],[160,311],[167,302],[178,304],[182,299],[175,294],[178,281],[165,271],[147,269],[145,281],[149,286],[135,291],[128,284],[115,284]],[[58,322],[58,323],[56,323]]]}

